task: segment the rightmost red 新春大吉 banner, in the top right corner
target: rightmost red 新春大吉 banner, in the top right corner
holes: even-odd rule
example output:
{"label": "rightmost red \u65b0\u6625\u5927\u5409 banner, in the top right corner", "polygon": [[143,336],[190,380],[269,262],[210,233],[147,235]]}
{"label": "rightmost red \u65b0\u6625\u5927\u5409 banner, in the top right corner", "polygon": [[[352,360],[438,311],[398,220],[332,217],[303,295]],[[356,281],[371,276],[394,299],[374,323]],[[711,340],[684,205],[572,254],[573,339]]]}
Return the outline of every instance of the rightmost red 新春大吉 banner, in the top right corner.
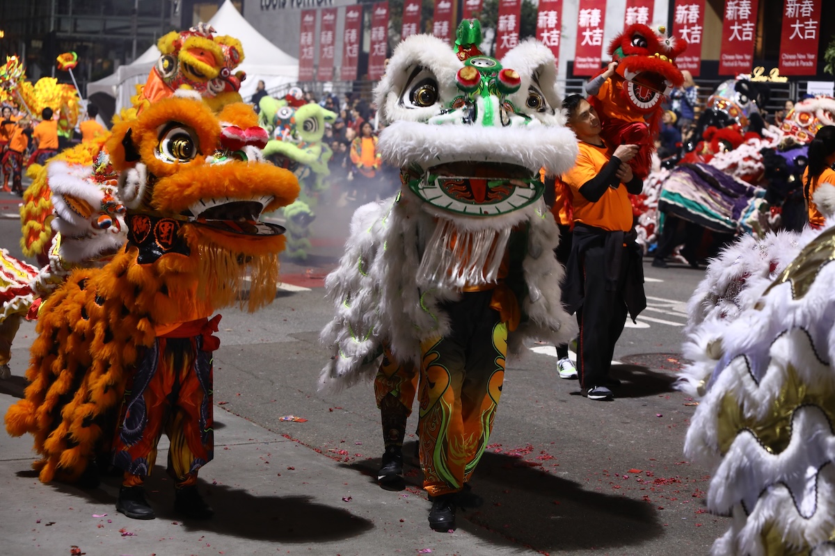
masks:
{"label": "rightmost red \u65b0\u6625\u5927\u5409 banner, in the top right corner", "polygon": [[784,0],[780,73],[815,75],[821,35],[821,0]]}

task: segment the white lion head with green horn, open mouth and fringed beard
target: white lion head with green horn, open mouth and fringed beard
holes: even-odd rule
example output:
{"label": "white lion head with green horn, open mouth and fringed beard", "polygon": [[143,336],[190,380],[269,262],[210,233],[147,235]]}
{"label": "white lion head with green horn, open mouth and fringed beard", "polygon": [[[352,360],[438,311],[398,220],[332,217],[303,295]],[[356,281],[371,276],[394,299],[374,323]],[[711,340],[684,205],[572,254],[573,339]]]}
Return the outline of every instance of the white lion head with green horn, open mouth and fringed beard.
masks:
{"label": "white lion head with green horn, open mouth and fringed beard", "polygon": [[[382,158],[444,224],[428,244],[436,256],[423,258],[430,281],[491,280],[510,229],[542,197],[540,168],[562,173],[577,156],[549,48],[529,40],[498,60],[478,51],[480,40],[478,21],[461,24],[456,51],[432,36],[407,38],[375,91],[387,123]],[[461,261],[469,268],[453,268]]]}

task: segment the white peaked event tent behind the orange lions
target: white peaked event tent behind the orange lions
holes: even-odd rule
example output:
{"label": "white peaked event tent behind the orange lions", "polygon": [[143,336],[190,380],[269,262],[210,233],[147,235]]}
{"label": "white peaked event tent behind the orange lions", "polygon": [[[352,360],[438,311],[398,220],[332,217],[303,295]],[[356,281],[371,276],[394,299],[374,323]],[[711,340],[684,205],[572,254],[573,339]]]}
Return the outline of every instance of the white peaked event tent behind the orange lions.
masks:
{"label": "white peaked event tent behind the orange lions", "polygon": [[[255,93],[259,80],[264,81],[268,90],[298,80],[298,59],[258,33],[235,9],[231,0],[226,0],[207,23],[215,28],[215,34],[235,37],[244,47],[244,61],[235,69],[246,73],[246,79],[240,86],[240,96],[244,99]],[[89,83],[87,97],[96,104],[112,104],[115,99],[114,113],[119,113],[122,108],[130,106],[130,98],[136,94],[136,85],[142,85],[148,80],[148,74],[159,55],[159,48],[154,44],[133,63],[119,66],[113,75]],[[102,99],[104,103],[96,98],[99,95],[107,98]]]}

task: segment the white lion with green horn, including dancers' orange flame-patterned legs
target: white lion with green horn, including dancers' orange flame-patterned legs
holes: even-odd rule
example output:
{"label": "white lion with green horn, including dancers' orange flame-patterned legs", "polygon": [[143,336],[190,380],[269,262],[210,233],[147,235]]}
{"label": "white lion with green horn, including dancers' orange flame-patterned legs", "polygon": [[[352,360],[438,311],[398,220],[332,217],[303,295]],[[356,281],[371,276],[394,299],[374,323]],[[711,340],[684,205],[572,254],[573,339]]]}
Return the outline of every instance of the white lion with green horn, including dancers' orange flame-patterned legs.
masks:
{"label": "white lion with green horn, including dancers' orange flame-patterned legs", "polygon": [[389,124],[379,148],[402,168],[402,191],[354,215],[326,281],[337,315],[321,334],[333,349],[321,388],[377,375],[387,456],[399,469],[419,371],[424,488],[435,500],[430,524],[443,531],[488,443],[508,346],[559,344],[575,331],[538,179],[539,168],[561,173],[577,154],[554,108],[554,57],[529,41],[499,61],[472,48],[479,38],[478,22],[464,22],[458,55],[418,35],[392,56],[375,95]]}

